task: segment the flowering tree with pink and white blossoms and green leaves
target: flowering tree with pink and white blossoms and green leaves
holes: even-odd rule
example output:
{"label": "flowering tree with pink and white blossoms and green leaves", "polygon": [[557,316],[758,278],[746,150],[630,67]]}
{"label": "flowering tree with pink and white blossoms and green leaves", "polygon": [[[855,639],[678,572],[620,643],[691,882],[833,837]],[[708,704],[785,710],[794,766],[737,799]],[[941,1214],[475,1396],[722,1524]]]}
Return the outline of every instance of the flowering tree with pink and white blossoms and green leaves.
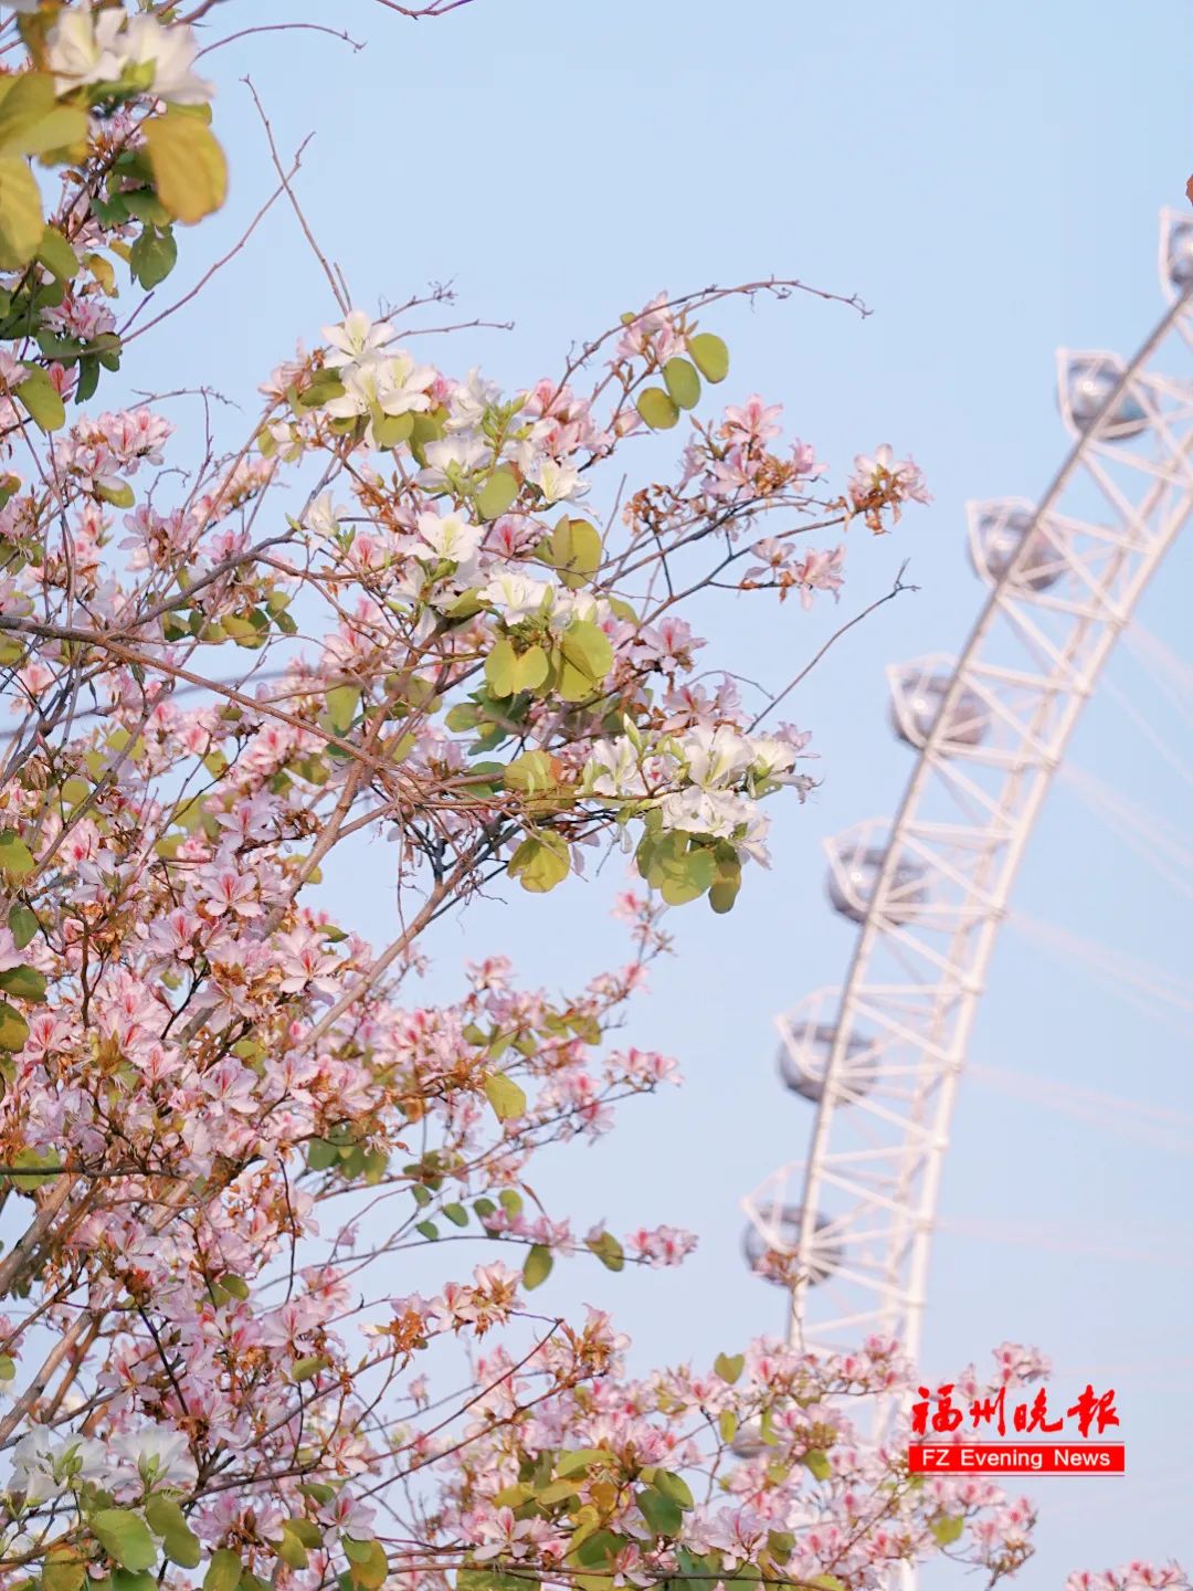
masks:
{"label": "flowering tree with pink and white blossoms and green leaves", "polygon": [[[690,1247],[573,1233],[527,1168],[674,1079],[606,1042],[660,913],[729,912],[764,803],[806,784],[806,735],[760,727],[779,697],[751,713],[697,678],[684,609],[835,595],[840,547],[806,538],[886,530],[918,469],[883,447],[834,490],[776,406],[698,417],[729,374],[724,291],[662,294],[504,395],[401,344],[417,299],[374,320],[331,267],[339,313],[248,434],[204,423],[167,468],[156,409],[95,399],[167,320],[146,294],[178,224],[224,197],[192,32],[215,10],[2,13],[0,1585],[841,1591],[932,1551],[1016,1567],[1026,1503],[854,1437],[851,1400],[907,1381],[896,1344],[628,1379],[603,1314],[530,1298],[560,1254]],[[678,476],[598,528],[614,453],[681,420]],[[396,842],[380,950],[307,899],[363,832]],[[624,967],[550,999],[488,958],[455,1004],[404,1002],[426,931],[485,883],[544,893],[619,843]],[[402,1255],[449,1231],[482,1263],[410,1293]],[[1007,1348],[993,1384],[1039,1368]]]}

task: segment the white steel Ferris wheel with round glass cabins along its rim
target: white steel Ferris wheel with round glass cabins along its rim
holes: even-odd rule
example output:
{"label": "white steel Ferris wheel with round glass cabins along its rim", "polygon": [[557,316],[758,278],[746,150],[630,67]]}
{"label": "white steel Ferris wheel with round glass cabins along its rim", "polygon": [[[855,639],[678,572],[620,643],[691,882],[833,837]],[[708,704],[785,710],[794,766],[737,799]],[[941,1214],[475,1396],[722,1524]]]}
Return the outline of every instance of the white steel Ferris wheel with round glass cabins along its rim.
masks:
{"label": "white steel Ferris wheel with round glass cabins along its rim", "polygon": [[[915,768],[894,818],[829,842],[853,959],[776,1018],[808,1152],[743,1200],[746,1260],[789,1289],[797,1346],[880,1333],[918,1357],[950,1120],[1012,888],[1082,706],[1193,512],[1193,220],[1171,210],[1160,277],[1168,310],[1131,360],[1058,353],[1074,444],[1040,501],[969,504],[988,600],[959,657],[888,671]],[[876,1402],[876,1435],[894,1413]]]}

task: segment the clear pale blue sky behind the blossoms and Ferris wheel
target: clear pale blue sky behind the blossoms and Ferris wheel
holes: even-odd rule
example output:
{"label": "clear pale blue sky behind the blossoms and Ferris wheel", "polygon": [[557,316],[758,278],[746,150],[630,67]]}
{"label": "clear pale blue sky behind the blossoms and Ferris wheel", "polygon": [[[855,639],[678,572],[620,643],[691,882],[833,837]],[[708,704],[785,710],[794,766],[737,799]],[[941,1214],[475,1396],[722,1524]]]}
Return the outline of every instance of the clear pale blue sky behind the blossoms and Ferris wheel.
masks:
{"label": "clear pale blue sky behind the blossoms and Ferris wheel", "polygon": [[[751,872],[727,920],[703,905],[673,913],[681,956],[655,977],[628,1037],[679,1055],[686,1091],[627,1109],[603,1146],[544,1171],[544,1193],[581,1230],[606,1214],[614,1230],[674,1222],[701,1236],[679,1271],[560,1266],[544,1301],[614,1308],[643,1368],[706,1360],[783,1324],[783,1297],[741,1262],[736,1201],[806,1144],[808,1107],[775,1076],[771,1018],[845,972],[853,931],[824,902],[821,840],[889,813],[910,772],[886,724],[884,665],[956,649],[978,611],[964,501],[1037,495],[1056,468],[1067,439],[1055,347],[1129,353],[1160,315],[1156,212],[1180,199],[1193,169],[1188,5],[476,0],[415,25],[369,0],[253,0],[218,8],[207,38],[294,19],[334,19],[367,48],[275,32],[210,57],[218,127],[235,156],[232,199],[188,240],[164,299],[269,191],[237,81],[250,70],[283,151],[317,134],[301,193],[358,304],[453,278],[458,318],[515,323],[423,342],[425,356],[458,371],[480,363],[517,387],[554,374],[573,339],[663,286],[773,272],[857,291],[867,320],[813,299],[717,312],[708,325],[733,352],[724,393],[783,401],[838,480],[857,450],[910,449],[935,495],[896,536],[851,533],[838,609],[709,609],[714,662],[775,686],[881,595],[905,557],[923,587],[854,632],[792,702],[824,786],[806,807],[776,811],[773,872]],[[208,379],[251,412],[256,382],[296,339],[317,340],[332,309],[278,210],[172,337],[145,350],[137,385]],[[651,450],[666,468],[678,445],[644,444],[643,479]],[[1177,549],[1141,613],[1172,648],[1188,630],[1190,562]],[[1150,676],[1120,655],[1112,678],[1188,760]],[[1168,821],[1187,810],[1187,783],[1107,694],[1086,711],[1074,760]],[[393,851],[361,846],[355,869],[326,886],[328,904],[377,942],[391,937],[391,869]],[[585,978],[622,953],[606,897],[604,885],[573,883],[442,926],[420,998],[450,996],[463,959],[495,950],[530,980]],[[1188,901],[1061,788],[1016,905],[1169,972],[1188,967]],[[972,1048],[985,1068],[1188,1114],[1188,1053],[1187,1029],[1004,934]],[[1039,1343],[1056,1360],[1059,1397],[1086,1378],[1117,1387],[1128,1443],[1125,1481],[1036,1483],[1039,1554],[1020,1581],[1031,1591],[1075,1566],[1193,1559],[1188,1203],[1188,1158],[966,1080],[927,1370],[981,1362],[1004,1338]],[[975,1235],[975,1222],[1031,1241]],[[959,1583],[959,1570],[932,1578]]]}

